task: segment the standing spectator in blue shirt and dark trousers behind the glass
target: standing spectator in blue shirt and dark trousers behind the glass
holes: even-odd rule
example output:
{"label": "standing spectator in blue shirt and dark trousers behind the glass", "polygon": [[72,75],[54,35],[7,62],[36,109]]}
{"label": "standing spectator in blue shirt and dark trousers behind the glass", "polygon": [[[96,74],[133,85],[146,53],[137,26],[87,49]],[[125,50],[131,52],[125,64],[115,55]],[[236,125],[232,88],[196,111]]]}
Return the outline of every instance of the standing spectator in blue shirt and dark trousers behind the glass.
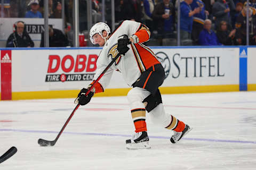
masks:
{"label": "standing spectator in blue shirt and dark trousers behind the glass", "polygon": [[201,0],[193,0],[190,4],[191,9],[199,7],[200,12],[193,16],[193,27],[191,37],[194,43],[198,44],[198,36],[199,33],[204,29],[204,20],[206,19],[206,15],[209,15],[209,12],[205,10],[204,3]]}

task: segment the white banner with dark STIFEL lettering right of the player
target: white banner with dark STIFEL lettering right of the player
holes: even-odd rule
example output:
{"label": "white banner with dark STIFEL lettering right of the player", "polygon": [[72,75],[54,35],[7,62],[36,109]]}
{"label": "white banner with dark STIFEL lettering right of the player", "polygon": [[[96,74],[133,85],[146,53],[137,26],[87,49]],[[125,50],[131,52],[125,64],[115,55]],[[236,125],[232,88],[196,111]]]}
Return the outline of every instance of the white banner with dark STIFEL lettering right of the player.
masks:
{"label": "white banner with dark STIFEL lettering right of the player", "polygon": [[239,84],[239,48],[153,48],[165,68],[163,86]]}

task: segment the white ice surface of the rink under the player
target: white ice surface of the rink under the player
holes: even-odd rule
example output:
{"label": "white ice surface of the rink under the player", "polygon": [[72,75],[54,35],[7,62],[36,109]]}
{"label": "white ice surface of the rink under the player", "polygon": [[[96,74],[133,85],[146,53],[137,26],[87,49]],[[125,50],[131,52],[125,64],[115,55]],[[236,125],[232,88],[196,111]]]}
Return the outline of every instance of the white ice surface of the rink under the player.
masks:
{"label": "white ice surface of the rink under the player", "polygon": [[171,131],[147,121],[151,149],[127,150],[133,133],[126,97],[94,97],[78,108],[73,98],[0,101],[0,155],[18,152],[1,170],[255,169],[256,92],[163,95],[165,111],[193,130],[173,145]]}

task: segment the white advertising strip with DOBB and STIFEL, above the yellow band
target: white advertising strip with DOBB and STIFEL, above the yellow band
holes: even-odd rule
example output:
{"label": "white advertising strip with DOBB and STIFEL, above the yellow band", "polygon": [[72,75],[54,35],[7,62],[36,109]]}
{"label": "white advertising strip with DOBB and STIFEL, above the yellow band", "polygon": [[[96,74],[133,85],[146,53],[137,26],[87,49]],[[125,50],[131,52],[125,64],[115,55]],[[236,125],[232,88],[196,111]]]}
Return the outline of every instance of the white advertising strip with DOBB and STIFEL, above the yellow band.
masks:
{"label": "white advertising strip with DOBB and STIFEL, above the yellow band", "polygon": [[[163,87],[239,84],[239,48],[153,48]],[[12,90],[71,90],[91,83],[100,48],[12,50]],[[108,88],[129,88],[115,72]]]}

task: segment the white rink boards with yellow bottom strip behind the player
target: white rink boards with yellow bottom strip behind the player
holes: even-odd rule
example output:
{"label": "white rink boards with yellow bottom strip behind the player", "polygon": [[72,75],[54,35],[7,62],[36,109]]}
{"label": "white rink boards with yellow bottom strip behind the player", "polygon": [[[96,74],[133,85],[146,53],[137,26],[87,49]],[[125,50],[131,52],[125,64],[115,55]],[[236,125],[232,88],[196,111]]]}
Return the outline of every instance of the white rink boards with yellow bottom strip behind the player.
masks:
{"label": "white rink boards with yellow bottom strip behind the player", "polygon": [[[76,97],[92,81],[101,48],[9,50],[11,95],[15,100]],[[239,47],[153,47],[152,50],[165,68],[166,79],[160,88],[163,94],[239,91]],[[255,75],[251,74],[255,72],[251,64],[255,63],[254,50],[248,48],[248,90],[256,90]],[[121,73],[115,71],[106,91],[95,96],[123,96],[129,90]]]}

